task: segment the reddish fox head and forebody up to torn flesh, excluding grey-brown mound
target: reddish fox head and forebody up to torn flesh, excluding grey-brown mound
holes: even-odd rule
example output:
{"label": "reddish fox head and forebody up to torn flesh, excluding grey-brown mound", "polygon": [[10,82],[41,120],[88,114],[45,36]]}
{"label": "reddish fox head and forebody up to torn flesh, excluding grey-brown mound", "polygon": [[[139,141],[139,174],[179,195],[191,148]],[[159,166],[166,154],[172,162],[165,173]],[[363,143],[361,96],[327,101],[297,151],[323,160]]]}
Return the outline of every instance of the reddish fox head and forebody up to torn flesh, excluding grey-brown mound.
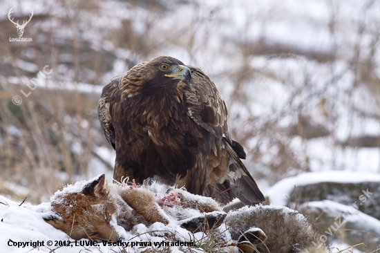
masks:
{"label": "reddish fox head and forebody up to torn flesh, excluding grey-brown mound", "polygon": [[[188,194],[182,189],[174,189],[172,198],[178,194]],[[45,217],[44,220],[57,229],[61,229],[71,238],[89,238],[91,240],[118,241],[115,225],[120,225],[127,231],[137,224],[150,225],[155,222],[167,225],[174,219],[186,219],[180,225],[196,232],[202,228],[204,219],[218,227],[225,218],[222,208],[212,198],[197,196],[199,202],[186,199],[182,196],[180,209],[207,210],[211,216],[200,215],[189,221],[183,212],[176,214],[164,212],[165,207],[176,205],[170,198],[160,200],[149,189],[128,185],[107,184],[104,174],[86,183],[77,182],[57,191],[50,198],[50,205],[55,216]],[[175,200],[174,200],[175,201]],[[160,203],[163,207],[160,207]],[[178,198],[178,204],[179,204]],[[177,205],[178,205],[177,204]],[[183,207],[184,206],[184,207]]]}

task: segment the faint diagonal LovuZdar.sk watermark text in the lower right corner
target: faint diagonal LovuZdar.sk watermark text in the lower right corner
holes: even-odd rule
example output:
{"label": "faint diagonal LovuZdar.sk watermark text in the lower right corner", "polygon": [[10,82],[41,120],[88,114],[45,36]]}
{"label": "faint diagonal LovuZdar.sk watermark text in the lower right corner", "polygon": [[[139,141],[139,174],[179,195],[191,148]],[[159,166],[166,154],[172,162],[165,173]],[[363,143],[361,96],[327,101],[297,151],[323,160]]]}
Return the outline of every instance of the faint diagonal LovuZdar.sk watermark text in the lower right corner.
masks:
{"label": "faint diagonal LovuZdar.sk watermark text in the lower right corner", "polygon": [[[367,198],[370,198],[372,194],[373,194],[372,192],[368,191],[368,188],[366,190],[363,190],[363,195],[359,196],[359,200],[361,201],[361,203],[359,205],[363,205],[363,203],[365,203],[365,201],[367,201]],[[335,221],[334,224],[331,225],[327,229],[327,231],[325,231],[325,234],[332,236],[332,234],[334,232],[336,232],[336,230],[341,228],[341,226],[347,221],[346,218],[351,216],[355,211],[357,211],[357,209],[359,209],[359,207],[357,205],[357,201],[355,201],[354,203],[352,203],[352,206],[350,206],[346,212],[344,212],[342,215],[338,215],[334,218],[334,221]],[[343,221],[341,221],[341,217],[343,217],[343,219],[344,219]],[[328,238],[325,234],[322,234],[319,237],[319,240],[321,241],[321,243],[319,245],[317,245],[314,241],[312,242],[313,245],[317,249],[319,249],[319,247],[321,247],[323,245],[323,243],[325,243],[328,240]]]}

